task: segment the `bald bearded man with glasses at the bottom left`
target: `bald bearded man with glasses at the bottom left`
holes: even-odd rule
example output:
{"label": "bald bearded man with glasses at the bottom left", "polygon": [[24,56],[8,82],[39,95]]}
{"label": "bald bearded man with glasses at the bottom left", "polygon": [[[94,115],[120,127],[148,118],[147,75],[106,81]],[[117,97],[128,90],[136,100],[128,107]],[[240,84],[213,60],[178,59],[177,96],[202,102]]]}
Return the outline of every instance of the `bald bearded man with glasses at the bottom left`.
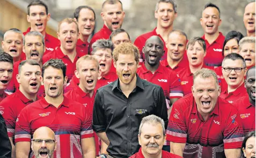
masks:
{"label": "bald bearded man with glasses at the bottom left", "polygon": [[56,150],[55,134],[49,127],[42,126],[35,130],[31,142],[35,158],[53,158]]}

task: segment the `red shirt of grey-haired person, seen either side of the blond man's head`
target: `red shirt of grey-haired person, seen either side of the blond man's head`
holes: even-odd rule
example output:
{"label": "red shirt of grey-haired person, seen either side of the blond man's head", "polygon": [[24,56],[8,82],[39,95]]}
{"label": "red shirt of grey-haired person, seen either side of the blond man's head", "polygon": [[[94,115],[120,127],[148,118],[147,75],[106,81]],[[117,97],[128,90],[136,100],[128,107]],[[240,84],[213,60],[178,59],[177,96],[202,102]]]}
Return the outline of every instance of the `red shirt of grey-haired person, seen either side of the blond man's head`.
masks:
{"label": "red shirt of grey-haired person, seen either side of the blond man's head", "polygon": [[[116,73],[109,71],[104,77],[101,77],[96,84],[96,87],[94,88],[95,91],[97,91],[97,89],[99,89],[102,86],[105,86],[107,84],[110,84],[111,82],[115,81],[116,79],[118,79],[118,76],[116,75]],[[67,93],[70,90],[74,89],[77,87],[77,85],[79,85],[79,79],[74,75],[69,84],[65,87],[64,92]]]}

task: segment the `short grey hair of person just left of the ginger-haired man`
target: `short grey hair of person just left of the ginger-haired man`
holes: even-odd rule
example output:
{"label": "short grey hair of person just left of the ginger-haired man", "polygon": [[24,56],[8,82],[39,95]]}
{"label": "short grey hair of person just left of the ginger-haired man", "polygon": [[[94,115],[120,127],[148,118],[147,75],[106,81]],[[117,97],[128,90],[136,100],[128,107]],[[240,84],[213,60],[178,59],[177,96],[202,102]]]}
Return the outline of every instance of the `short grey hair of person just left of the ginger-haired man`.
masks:
{"label": "short grey hair of person just left of the ginger-haired man", "polygon": [[111,40],[100,39],[92,44],[92,55],[99,49],[111,49],[111,54],[114,49],[114,44]]}

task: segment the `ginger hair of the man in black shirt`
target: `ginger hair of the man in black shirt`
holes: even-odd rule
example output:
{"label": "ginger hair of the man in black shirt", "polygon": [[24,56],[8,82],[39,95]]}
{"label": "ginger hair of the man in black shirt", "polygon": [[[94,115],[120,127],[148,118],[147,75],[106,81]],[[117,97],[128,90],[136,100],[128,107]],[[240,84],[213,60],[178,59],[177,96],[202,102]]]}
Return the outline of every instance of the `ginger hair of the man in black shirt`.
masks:
{"label": "ginger hair of the man in black shirt", "polygon": [[114,61],[118,61],[119,54],[134,55],[135,61],[138,63],[140,59],[140,50],[134,44],[125,42],[116,47],[113,51]]}

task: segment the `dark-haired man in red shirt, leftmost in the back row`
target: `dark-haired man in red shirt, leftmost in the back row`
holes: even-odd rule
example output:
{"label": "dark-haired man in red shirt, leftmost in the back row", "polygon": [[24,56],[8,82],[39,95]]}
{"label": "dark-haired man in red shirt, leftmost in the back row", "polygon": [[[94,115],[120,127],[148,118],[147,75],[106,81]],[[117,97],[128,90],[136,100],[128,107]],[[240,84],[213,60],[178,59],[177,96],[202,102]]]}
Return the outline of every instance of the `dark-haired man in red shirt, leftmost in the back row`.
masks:
{"label": "dark-haired man in red shirt, leftmost in the back row", "polygon": [[31,27],[28,27],[27,31],[23,34],[25,35],[30,31],[40,32],[43,37],[45,37],[46,54],[50,51],[53,51],[55,47],[60,44],[58,39],[46,33],[47,21],[49,20],[50,13],[48,12],[48,6],[43,1],[36,0],[28,4],[27,22],[30,22]]}

